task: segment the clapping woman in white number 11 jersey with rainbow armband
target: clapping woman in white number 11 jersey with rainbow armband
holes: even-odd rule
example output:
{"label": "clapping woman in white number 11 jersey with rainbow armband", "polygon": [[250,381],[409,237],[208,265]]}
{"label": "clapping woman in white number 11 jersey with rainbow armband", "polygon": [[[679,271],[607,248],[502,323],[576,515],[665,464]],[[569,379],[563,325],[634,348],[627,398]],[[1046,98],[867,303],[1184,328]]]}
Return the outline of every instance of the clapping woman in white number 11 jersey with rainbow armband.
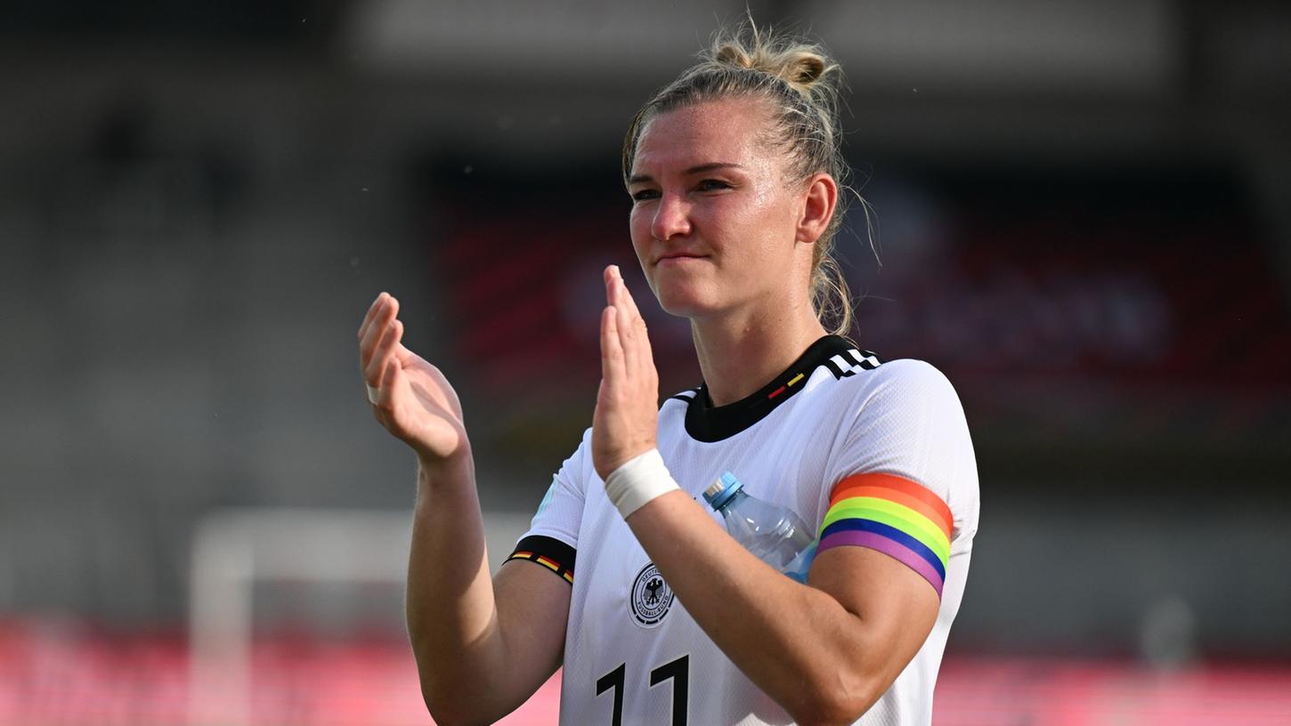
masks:
{"label": "clapping woman in white number 11 jersey with rainbow armband", "polygon": [[[394,298],[359,329],[373,413],[420,462],[408,624],[438,723],[501,718],[562,665],[562,723],[931,721],[977,521],[963,411],[932,366],[825,329],[831,303],[835,333],[849,317],[838,68],[745,35],[658,92],[624,150],[633,246],[704,386],[658,406],[607,268],[593,426],[492,582],[457,396],[400,343]],[[820,527],[806,584],[696,500],[723,471]]]}

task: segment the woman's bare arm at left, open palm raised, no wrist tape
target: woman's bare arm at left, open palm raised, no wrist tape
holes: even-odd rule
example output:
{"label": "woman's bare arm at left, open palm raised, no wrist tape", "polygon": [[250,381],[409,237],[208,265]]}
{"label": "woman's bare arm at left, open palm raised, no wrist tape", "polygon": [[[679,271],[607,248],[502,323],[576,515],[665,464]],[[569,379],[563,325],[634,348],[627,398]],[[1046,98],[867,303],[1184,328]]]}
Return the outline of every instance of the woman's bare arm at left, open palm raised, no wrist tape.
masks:
{"label": "woman's bare arm at left, open palm raised, no wrist tape", "polygon": [[462,409],[443,374],[403,347],[399,303],[382,293],[359,328],[373,415],[416,453],[417,505],[408,558],[408,633],[426,707],[438,723],[491,723],[524,703],[560,664],[569,585],[507,564],[489,579],[475,466]]}

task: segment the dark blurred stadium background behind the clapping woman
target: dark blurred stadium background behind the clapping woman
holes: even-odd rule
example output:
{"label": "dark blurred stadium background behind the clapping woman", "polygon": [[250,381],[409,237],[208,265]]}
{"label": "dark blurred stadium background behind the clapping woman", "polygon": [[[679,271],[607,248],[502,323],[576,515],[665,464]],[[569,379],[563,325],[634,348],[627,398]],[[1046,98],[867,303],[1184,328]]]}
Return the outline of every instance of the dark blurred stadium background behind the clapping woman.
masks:
{"label": "dark blurred stadium background behind the clapping woman", "polygon": [[[749,6],[848,72],[856,338],[973,431],[936,722],[1291,723],[1291,5]],[[359,320],[456,383],[497,561],[590,422],[626,124],[744,10],[0,1],[0,726],[425,723]]]}

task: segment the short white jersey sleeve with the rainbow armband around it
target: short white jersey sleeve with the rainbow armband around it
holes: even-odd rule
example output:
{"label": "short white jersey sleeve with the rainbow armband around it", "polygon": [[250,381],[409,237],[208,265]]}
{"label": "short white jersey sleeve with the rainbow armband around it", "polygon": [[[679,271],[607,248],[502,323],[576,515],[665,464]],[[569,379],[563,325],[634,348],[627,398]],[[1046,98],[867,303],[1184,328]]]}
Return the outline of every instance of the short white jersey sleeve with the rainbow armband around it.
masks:
{"label": "short white jersey sleeve with the rainbow armband around it", "polygon": [[914,360],[869,374],[822,491],[817,552],[884,552],[941,594],[950,556],[977,531],[977,464],[959,397]]}

